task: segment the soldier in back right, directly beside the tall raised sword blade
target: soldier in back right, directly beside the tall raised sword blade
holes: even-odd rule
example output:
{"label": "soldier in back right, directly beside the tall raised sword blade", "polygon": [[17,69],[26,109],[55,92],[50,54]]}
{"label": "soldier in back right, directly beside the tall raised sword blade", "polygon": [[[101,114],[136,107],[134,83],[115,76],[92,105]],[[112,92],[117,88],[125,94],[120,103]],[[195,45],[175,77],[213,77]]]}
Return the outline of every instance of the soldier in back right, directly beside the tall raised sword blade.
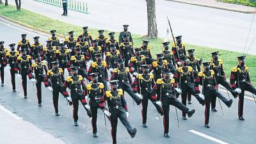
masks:
{"label": "soldier in back right, directly beside the tall raised sword blade", "polygon": [[179,61],[179,57],[187,55],[185,44],[181,42],[181,37],[182,37],[181,35],[175,37],[177,47],[175,47],[175,44],[172,44],[172,52],[174,54],[176,63]]}

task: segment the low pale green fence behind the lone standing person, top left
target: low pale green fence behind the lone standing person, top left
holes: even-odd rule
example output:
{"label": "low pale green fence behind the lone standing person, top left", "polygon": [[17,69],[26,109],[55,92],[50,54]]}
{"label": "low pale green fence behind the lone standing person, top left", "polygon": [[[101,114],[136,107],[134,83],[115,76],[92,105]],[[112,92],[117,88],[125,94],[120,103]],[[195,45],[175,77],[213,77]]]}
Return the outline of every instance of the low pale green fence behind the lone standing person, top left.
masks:
{"label": "low pale green fence behind the lone standing person, top left", "polygon": [[[35,1],[51,4],[53,6],[62,7],[61,0],[35,0]],[[89,13],[87,3],[83,2],[83,1],[68,0],[68,9],[74,10],[77,12],[81,12],[81,13]]]}

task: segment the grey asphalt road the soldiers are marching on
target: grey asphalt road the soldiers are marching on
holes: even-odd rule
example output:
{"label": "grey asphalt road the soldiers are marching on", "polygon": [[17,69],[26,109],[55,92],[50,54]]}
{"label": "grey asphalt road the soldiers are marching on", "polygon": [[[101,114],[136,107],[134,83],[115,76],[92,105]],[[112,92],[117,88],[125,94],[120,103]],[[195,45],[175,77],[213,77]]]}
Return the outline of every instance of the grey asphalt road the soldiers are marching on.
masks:
{"label": "grey asphalt road the soldiers are marching on", "polygon": [[[0,31],[4,35],[0,35],[0,40],[6,42],[8,45],[12,42],[19,40],[21,33],[24,29],[12,24],[6,25],[0,20]],[[26,29],[28,38],[37,35],[33,31]],[[45,35],[43,35],[45,36]],[[45,40],[41,37],[40,40]],[[67,74],[67,73],[66,73]],[[28,81],[29,82],[29,81]],[[10,81],[10,71],[5,68],[5,84],[0,87],[0,102],[4,108],[13,111],[16,115],[22,117],[24,120],[31,122],[45,132],[49,132],[56,138],[60,138],[65,143],[90,143],[90,144],[105,144],[111,143],[110,123],[107,121],[107,131],[104,126],[104,116],[101,111],[98,115],[98,134],[99,138],[92,137],[92,126],[90,118],[86,116],[86,111],[81,107],[79,108],[79,127],[74,127],[72,118],[72,107],[67,106],[67,102],[60,95],[59,111],[60,117],[54,115],[54,108],[52,106],[52,95],[44,86],[42,86],[42,107],[38,108],[36,99],[36,88],[31,82],[28,83],[28,99],[24,99],[21,86],[21,78],[16,77],[17,93],[12,92],[12,84]],[[228,97],[227,93],[223,93]],[[141,125],[141,106],[133,106],[132,99],[125,93],[126,100],[129,106],[129,121],[133,127],[138,129],[136,138],[132,139],[124,126],[119,122],[118,124],[118,143],[129,144],[162,144],[162,143],[200,143],[200,144],[213,144],[213,143],[248,143],[253,144],[256,142],[255,137],[255,102],[253,100],[244,100],[244,122],[237,118],[237,99],[234,99],[234,104],[231,108],[227,108],[222,102],[223,111],[221,113],[220,104],[217,103],[218,112],[211,112],[210,129],[204,127],[204,107],[200,106],[196,99],[193,98],[193,104],[188,105],[189,108],[196,109],[195,115],[184,121],[181,118],[181,112],[178,110],[180,128],[177,126],[177,119],[175,108],[170,108],[170,136],[171,138],[163,137],[163,120],[156,120],[156,109],[149,103],[148,108],[148,128],[143,128]],[[193,131],[191,131],[193,130]],[[0,130],[1,132],[4,129]],[[15,130],[13,130],[15,131]],[[194,133],[193,133],[194,132]],[[201,132],[196,135],[196,132]],[[202,135],[202,134],[206,134]],[[205,138],[203,137],[205,136]],[[211,136],[211,138],[209,137]],[[215,139],[214,139],[215,138]],[[221,140],[221,141],[220,141]],[[1,140],[0,140],[1,141]],[[26,143],[26,141],[22,141]]]}

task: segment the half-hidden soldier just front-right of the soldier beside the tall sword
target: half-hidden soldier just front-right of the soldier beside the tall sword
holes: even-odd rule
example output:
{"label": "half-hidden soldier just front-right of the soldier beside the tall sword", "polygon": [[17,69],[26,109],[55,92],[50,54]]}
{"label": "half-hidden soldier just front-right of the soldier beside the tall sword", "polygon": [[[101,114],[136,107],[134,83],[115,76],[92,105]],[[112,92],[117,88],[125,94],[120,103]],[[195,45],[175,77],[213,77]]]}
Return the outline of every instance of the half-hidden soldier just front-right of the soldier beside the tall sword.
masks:
{"label": "half-hidden soldier just front-right of the soldier beside the tall sword", "polygon": [[[198,72],[201,72],[200,65],[202,63],[202,59],[199,60],[195,54],[194,54],[195,49],[189,49],[188,50],[188,66],[193,68],[193,76],[196,79]],[[188,93],[188,104],[191,103],[191,93]]]}

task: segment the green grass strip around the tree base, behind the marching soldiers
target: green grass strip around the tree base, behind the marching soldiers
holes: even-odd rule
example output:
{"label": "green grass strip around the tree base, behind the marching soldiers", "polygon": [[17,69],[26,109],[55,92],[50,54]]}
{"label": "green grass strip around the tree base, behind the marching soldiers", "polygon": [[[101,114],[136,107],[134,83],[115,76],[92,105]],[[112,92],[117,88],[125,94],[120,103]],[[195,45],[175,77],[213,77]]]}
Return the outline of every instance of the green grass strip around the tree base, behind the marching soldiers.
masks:
{"label": "green grass strip around the tree base, behind the marching soldiers", "polygon": [[[68,24],[66,22],[61,22],[60,20],[52,19],[49,17],[45,17],[44,15],[40,15],[38,13],[34,13],[28,10],[22,9],[21,11],[17,11],[15,6],[7,6],[4,4],[0,4],[0,15],[4,15],[5,17],[9,17],[10,19],[17,20],[24,24],[29,24],[34,26],[35,28],[44,29],[45,31],[51,31],[52,29],[56,29],[56,31],[60,34],[65,33],[67,35],[68,31],[76,31],[76,36],[83,32],[83,29],[79,26],[74,26],[72,24]],[[97,36],[98,29],[88,29],[92,33],[93,38]],[[109,31],[105,32],[106,35]],[[118,33],[116,33],[116,38],[118,38]],[[132,35],[134,40],[134,47],[140,47],[141,42],[143,40],[143,36],[141,35]],[[156,54],[162,51],[162,42],[163,39],[157,38],[150,40],[150,47],[152,47],[152,54]],[[204,61],[211,60],[211,52],[212,51],[220,51],[220,58],[224,62],[224,70],[227,75],[227,79],[230,76],[230,70],[232,67],[237,65],[236,56],[242,55],[241,52],[233,52],[233,51],[225,51],[222,49],[214,49],[211,47],[203,47],[198,45],[186,44],[186,49],[196,49],[195,55],[198,58],[204,58]],[[250,75],[252,82],[256,82],[256,59],[253,55],[246,56],[246,65],[250,68]]]}

